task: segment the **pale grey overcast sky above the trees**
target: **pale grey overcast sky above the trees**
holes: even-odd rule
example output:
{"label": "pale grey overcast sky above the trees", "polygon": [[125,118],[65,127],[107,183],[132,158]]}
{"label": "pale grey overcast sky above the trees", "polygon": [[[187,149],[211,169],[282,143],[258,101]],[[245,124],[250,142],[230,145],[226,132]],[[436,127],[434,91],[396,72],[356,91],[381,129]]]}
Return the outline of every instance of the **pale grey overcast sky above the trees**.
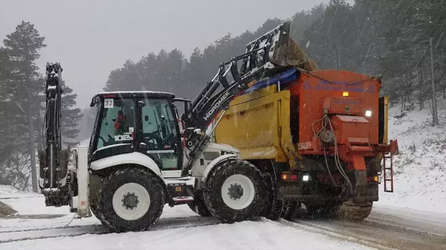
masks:
{"label": "pale grey overcast sky above the trees", "polygon": [[328,0],[0,0],[0,37],[22,20],[34,23],[47,44],[37,66],[44,73],[48,60],[61,62],[63,79],[85,108],[127,59],[174,48],[189,58],[194,47],[228,32],[253,31],[268,18],[286,19],[322,2]]}

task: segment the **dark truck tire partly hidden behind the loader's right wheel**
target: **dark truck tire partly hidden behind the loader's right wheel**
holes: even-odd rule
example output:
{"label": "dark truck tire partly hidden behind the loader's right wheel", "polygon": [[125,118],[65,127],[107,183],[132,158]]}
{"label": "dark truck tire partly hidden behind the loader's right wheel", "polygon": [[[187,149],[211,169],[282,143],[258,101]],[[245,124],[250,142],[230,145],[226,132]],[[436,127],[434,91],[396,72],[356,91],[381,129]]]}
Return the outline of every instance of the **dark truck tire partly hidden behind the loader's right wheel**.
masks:
{"label": "dark truck tire partly hidden behind the loader's right wheel", "polygon": [[284,202],[277,199],[277,185],[270,173],[265,173],[265,198],[266,205],[262,212],[263,216],[269,220],[279,220],[284,207]]}

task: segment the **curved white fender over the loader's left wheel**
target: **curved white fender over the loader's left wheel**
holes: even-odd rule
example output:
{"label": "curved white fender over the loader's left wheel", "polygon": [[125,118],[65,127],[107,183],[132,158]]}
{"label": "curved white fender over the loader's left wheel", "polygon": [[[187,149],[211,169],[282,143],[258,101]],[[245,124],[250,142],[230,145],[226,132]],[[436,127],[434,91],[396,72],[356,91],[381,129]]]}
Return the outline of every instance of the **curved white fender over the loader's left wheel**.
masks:
{"label": "curved white fender over the loader's left wheel", "polygon": [[149,170],[152,170],[156,175],[158,175],[158,177],[161,177],[162,180],[164,180],[161,175],[160,168],[158,168],[158,165],[156,165],[155,161],[140,152],[131,152],[128,154],[114,155],[111,157],[98,159],[97,161],[93,161],[92,163],[90,163],[89,168],[92,170],[103,170],[105,168],[125,163],[145,166],[146,168],[149,168]]}

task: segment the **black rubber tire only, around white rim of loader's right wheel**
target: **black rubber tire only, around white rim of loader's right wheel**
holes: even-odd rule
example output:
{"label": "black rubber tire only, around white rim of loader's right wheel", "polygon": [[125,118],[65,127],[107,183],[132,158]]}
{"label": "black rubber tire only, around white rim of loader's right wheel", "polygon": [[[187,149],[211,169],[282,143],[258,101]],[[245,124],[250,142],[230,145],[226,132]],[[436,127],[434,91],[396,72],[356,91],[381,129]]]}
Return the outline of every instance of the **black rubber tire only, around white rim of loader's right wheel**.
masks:
{"label": "black rubber tire only, around white rim of loader's right wheel", "polygon": [[[236,176],[235,174],[240,175]],[[246,183],[246,185],[252,183],[254,192],[252,192],[252,190],[247,190],[247,192],[246,190],[243,190],[243,194],[237,194],[241,195],[241,199],[239,199],[240,201],[245,198],[249,198],[250,196],[253,197],[253,200],[250,201],[246,207],[234,209],[224,202],[224,199],[229,198],[229,194],[226,195],[226,192],[229,193],[229,188],[227,191],[225,190],[224,197],[222,196],[222,188],[224,188],[223,185],[226,179],[229,177],[231,177],[231,179],[241,178],[239,180],[244,180],[243,182]],[[244,177],[247,177],[249,181]],[[240,182],[240,184],[237,185],[234,183],[233,185],[238,187],[238,185],[241,184],[245,185],[244,183]],[[240,159],[227,159],[226,161],[217,163],[217,166],[215,166],[213,170],[209,172],[206,183],[204,183],[203,190],[204,203],[209,209],[209,212],[212,214],[212,216],[223,223],[235,223],[243,220],[252,220],[253,218],[262,216],[261,212],[262,208],[264,207],[265,196],[264,179],[262,177],[262,172],[260,172],[259,169],[248,161],[242,161]],[[237,200],[237,198],[235,198],[235,200]],[[251,198],[249,198],[248,201],[249,200],[251,200]]]}

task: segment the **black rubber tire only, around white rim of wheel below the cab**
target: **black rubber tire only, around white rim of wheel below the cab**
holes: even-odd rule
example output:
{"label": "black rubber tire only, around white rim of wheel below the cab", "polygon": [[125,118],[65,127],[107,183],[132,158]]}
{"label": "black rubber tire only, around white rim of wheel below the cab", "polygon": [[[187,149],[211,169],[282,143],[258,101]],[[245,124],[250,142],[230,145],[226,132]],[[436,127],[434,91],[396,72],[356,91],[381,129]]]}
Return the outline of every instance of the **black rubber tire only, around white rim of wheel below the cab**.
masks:
{"label": "black rubber tire only, around white rim of wheel below the cab", "polygon": [[[131,188],[138,187],[140,189],[140,196],[138,196],[138,192],[136,192],[136,196],[138,196],[138,201],[142,201],[138,203],[138,205],[142,205],[144,207],[144,195],[149,194],[150,205],[142,216],[136,218],[134,220],[122,218],[118,215],[116,211],[121,213],[121,216],[128,216],[131,214],[130,211],[132,209],[123,209],[120,208],[119,205],[116,205],[116,210],[114,208],[114,201],[116,204],[121,201],[123,207],[125,207],[123,199],[121,200],[120,196],[116,196],[114,200],[114,194],[118,190],[118,188],[123,185],[130,185]],[[136,185],[137,184],[137,185]],[[144,192],[147,191],[147,193]],[[118,190],[121,194],[123,192],[127,192],[125,188],[123,190]],[[129,192],[127,193],[129,194]],[[123,196],[127,195],[124,194]],[[143,231],[150,229],[156,223],[156,220],[160,218],[162,214],[162,209],[165,204],[165,190],[164,183],[158,177],[156,177],[153,172],[149,172],[149,170],[142,170],[135,167],[127,167],[118,169],[116,172],[109,174],[108,177],[102,179],[97,193],[97,201],[96,201],[96,214],[100,216],[100,221],[105,223],[111,231]],[[138,206],[137,205],[137,206]],[[137,209],[141,209],[136,207]],[[125,214],[125,212],[129,211],[129,214]],[[144,211],[141,212],[141,214]]]}

